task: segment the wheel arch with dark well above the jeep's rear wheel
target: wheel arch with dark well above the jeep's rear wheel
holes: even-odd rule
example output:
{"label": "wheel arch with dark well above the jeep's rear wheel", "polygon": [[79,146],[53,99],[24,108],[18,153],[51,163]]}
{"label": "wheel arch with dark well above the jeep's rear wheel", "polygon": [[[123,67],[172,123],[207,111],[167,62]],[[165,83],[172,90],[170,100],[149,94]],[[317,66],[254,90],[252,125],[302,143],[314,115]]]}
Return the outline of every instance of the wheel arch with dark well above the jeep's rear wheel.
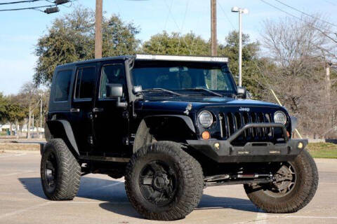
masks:
{"label": "wheel arch with dark well above the jeep's rear wheel", "polygon": [[72,126],[67,120],[49,120],[45,125],[46,140],[60,138],[70,149],[72,154],[77,158],[79,156],[79,148],[75,141]]}

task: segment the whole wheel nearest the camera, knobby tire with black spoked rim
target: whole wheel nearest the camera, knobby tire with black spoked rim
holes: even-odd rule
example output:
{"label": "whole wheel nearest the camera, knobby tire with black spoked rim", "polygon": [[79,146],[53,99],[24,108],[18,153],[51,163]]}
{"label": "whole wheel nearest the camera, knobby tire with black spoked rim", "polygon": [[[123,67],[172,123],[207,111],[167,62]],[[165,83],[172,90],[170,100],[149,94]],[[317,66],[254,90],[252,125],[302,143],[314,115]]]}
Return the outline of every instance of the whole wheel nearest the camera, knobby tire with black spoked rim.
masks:
{"label": "whole wheel nearest the camera, knobby tire with black spoked rim", "polygon": [[180,144],[159,141],[133,155],[126,169],[126,193],[145,218],[171,221],[197,207],[204,180],[197,160]]}

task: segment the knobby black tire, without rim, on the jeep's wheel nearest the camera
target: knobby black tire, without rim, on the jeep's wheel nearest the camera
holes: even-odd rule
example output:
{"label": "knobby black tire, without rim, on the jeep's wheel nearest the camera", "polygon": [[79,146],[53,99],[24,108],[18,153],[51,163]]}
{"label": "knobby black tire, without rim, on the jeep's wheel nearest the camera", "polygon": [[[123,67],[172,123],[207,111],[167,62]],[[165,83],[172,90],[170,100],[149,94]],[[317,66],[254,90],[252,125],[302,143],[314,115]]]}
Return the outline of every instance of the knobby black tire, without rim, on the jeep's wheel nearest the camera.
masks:
{"label": "knobby black tire, without rim, on the jeep's wheel nearest the camera", "polygon": [[[178,188],[165,206],[147,201],[140,191],[141,170],[157,160],[169,162],[178,172]],[[171,141],[158,141],[140,148],[126,167],[125,181],[126,194],[136,211],[147,219],[159,221],[185,218],[199,204],[204,188],[199,162],[183,151],[182,145]]]}

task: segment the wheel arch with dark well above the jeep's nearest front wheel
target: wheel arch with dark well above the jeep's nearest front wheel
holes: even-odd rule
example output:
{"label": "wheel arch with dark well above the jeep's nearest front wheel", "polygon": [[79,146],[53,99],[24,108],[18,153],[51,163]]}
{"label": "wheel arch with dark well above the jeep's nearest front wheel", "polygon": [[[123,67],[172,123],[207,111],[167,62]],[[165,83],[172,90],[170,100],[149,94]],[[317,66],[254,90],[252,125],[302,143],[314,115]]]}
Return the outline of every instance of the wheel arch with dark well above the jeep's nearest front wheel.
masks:
{"label": "wheel arch with dark well above the jeep's nearest front wheel", "polygon": [[195,128],[188,116],[155,115],[143,118],[138,126],[133,153],[153,139],[158,141],[186,140],[195,138]]}

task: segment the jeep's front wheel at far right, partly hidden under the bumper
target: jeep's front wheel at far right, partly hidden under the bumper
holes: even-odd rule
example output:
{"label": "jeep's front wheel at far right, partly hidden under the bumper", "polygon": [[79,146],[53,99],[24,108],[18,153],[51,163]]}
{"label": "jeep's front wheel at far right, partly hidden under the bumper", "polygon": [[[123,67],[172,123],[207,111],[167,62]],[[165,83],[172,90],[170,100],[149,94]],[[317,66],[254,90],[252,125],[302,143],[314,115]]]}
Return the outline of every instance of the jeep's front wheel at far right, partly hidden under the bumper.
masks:
{"label": "jeep's front wheel at far right, partly hidden under the bumper", "polygon": [[270,213],[291,213],[302,209],[314,197],[318,186],[315,161],[307,151],[295,160],[282,162],[270,184],[244,185],[249,199],[259,209]]}

